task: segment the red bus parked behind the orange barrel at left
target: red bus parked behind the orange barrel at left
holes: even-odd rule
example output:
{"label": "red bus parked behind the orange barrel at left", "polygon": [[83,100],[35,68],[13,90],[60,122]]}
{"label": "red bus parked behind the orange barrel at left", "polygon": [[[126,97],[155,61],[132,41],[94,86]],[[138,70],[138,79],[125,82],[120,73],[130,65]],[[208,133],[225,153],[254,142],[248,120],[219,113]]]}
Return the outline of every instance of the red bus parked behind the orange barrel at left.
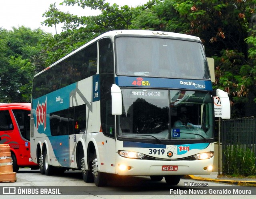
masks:
{"label": "red bus parked behind the orange barrel at left", "polygon": [[30,156],[30,103],[0,103],[0,144],[9,144],[13,171],[39,169]]}

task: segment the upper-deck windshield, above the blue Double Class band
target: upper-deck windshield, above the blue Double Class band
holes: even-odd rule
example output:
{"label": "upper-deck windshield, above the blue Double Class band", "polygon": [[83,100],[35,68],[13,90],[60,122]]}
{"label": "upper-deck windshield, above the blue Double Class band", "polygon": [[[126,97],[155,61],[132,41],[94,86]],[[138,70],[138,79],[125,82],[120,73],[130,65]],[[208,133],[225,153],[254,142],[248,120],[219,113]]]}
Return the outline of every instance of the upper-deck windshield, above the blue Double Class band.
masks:
{"label": "upper-deck windshield, above the blue Double Class band", "polygon": [[164,38],[116,38],[116,74],[210,80],[202,44]]}

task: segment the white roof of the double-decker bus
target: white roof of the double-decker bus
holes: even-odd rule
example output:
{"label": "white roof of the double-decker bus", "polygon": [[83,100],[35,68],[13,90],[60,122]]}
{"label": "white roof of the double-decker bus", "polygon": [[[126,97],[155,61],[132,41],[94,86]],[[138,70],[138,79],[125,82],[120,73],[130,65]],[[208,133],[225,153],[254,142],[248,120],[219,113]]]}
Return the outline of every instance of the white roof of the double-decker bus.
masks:
{"label": "white roof of the double-decker bus", "polygon": [[64,56],[63,58],[61,58],[60,60],[58,60],[54,64],[52,64],[52,65],[48,66],[47,68],[45,68],[44,70],[38,72],[38,74],[36,74],[34,77],[36,77],[39,74],[41,74],[42,72],[48,70],[52,66],[55,66],[56,64],[62,62],[63,60],[72,56],[76,52],[82,50],[86,46],[89,46],[90,44],[100,40],[101,38],[105,38],[105,37],[114,38],[117,35],[118,36],[120,36],[120,35],[123,35],[123,36],[124,35],[126,35],[126,36],[128,36],[128,35],[130,35],[130,36],[155,36],[155,37],[162,37],[162,38],[167,37],[167,38],[176,38],[176,39],[195,40],[195,41],[201,42],[199,37],[192,36],[192,35],[187,35],[187,34],[175,33],[175,32],[162,32],[162,31],[157,31],[157,30],[111,30],[111,31],[108,31],[108,32],[105,32],[105,33],[101,34],[100,36],[94,38],[93,40],[84,44],[80,48],[74,50],[70,54]]}

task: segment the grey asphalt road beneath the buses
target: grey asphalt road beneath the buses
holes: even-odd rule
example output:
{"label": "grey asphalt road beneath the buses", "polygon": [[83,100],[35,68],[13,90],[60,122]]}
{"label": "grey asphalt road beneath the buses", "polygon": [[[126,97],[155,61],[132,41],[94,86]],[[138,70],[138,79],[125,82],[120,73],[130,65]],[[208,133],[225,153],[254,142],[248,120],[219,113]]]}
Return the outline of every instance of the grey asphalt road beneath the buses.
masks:
{"label": "grey asphalt road beneath the buses", "polygon": [[[204,186],[204,187],[202,187]],[[1,190],[2,187],[2,190]],[[13,192],[15,195],[8,194]],[[150,177],[118,177],[110,178],[106,187],[96,187],[94,183],[85,183],[79,171],[65,171],[62,175],[46,176],[39,170],[20,169],[16,182],[0,183],[1,198],[105,198],[105,199],[161,199],[161,198],[233,198],[232,189],[239,186],[222,183],[195,181],[181,179],[175,186],[166,184],[163,179],[160,182],[150,180]],[[5,193],[3,193],[3,189]],[[209,195],[209,190],[226,190],[232,192],[226,195]],[[2,191],[2,192],[1,192]],[[36,192],[37,191],[37,192]],[[42,192],[41,192],[42,191]],[[45,192],[44,192],[45,191]],[[190,193],[185,195],[185,192]],[[7,194],[6,194],[7,193]],[[33,195],[34,193],[34,195]],[[40,195],[40,193],[44,195]],[[60,194],[59,194],[60,193]],[[204,193],[207,193],[205,195]],[[239,196],[241,197],[241,195]],[[242,195],[252,197],[252,195]]]}

